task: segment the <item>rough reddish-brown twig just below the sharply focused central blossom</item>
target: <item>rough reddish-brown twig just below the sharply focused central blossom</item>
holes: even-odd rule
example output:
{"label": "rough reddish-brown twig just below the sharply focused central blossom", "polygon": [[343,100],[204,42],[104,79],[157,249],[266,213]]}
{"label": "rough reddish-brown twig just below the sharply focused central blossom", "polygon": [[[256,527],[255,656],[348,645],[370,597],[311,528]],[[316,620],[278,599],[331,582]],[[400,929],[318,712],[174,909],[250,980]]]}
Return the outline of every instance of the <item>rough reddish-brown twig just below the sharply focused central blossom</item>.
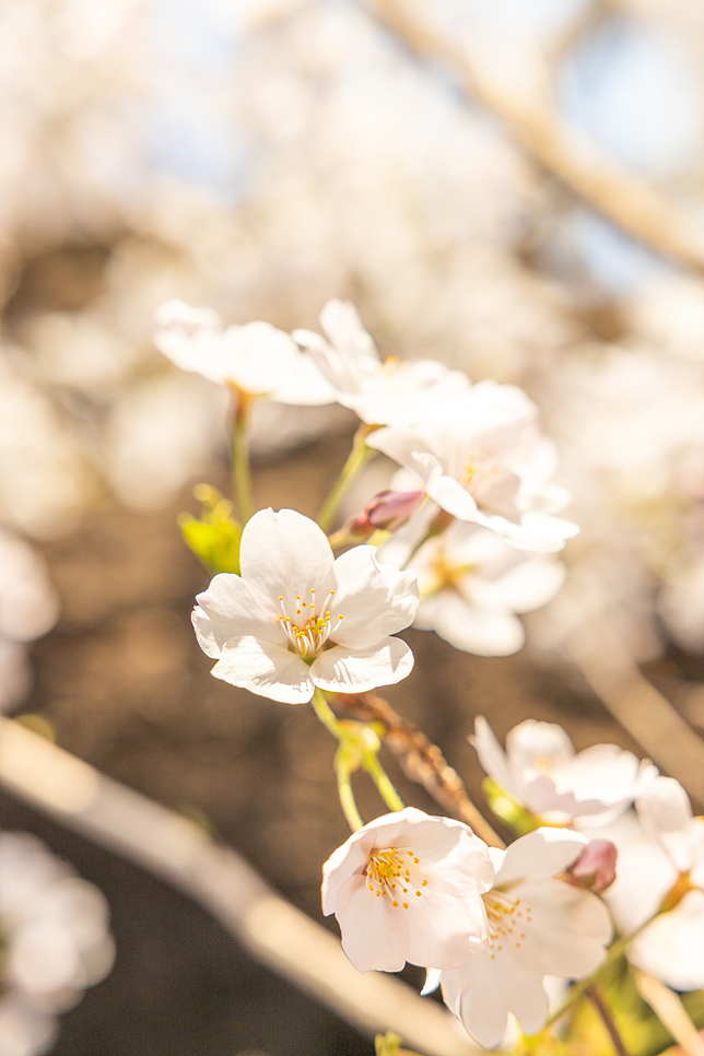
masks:
{"label": "rough reddish-brown twig just below the sharply focused central blossom", "polygon": [[467,795],[461,777],[448,765],[439,748],[418,726],[395,712],[388,701],[375,693],[339,693],[332,703],[351,718],[362,723],[379,723],[384,728],[384,740],[407,777],[422,785],[433,799],[473,829],[491,847],[505,846],[480,814]]}

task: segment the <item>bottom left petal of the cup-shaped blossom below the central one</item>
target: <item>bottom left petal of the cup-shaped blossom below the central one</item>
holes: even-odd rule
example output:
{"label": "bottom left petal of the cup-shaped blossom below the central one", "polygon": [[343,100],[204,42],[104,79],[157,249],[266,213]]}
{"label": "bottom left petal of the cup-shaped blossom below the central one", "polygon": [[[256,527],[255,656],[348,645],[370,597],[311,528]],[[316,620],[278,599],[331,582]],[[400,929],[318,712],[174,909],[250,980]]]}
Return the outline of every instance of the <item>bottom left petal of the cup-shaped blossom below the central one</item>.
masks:
{"label": "bottom left petal of the cup-shaped blossom below the central one", "polygon": [[400,972],[407,961],[409,915],[394,907],[389,895],[369,891],[366,877],[352,876],[341,884],[335,915],[342,949],[359,972]]}

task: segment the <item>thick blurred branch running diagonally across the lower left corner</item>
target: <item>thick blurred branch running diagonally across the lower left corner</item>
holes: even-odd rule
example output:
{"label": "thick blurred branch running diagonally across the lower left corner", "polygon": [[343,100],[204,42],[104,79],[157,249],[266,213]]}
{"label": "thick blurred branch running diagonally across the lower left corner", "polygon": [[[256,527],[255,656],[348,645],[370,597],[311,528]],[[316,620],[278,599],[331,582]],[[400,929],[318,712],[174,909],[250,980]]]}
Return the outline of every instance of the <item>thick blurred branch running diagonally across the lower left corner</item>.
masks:
{"label": "thick blurred branch running diagonally across the lower left corner", "polygon": [[449,1012],[390,976],[362,975],[338,939],[192,822],[0,717],[0,784],[190,895],[263,961],[367,1034],[392,1030],[427,1056],[479,1056]]}

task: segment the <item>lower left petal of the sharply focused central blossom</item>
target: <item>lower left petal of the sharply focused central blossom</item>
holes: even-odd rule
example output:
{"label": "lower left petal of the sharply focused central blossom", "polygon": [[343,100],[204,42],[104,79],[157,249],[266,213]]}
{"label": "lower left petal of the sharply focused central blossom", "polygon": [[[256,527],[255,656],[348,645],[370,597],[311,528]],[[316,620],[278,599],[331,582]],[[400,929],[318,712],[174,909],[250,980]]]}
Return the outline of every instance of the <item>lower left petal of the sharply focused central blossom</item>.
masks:
{"label": "lower left petal of the sharply focused central blossom", "polygon": [[283,704],[306,704],[315,690],[309,669],[297,654],[279,646],[265,647],[251,635],[227,646],[211,673]]}

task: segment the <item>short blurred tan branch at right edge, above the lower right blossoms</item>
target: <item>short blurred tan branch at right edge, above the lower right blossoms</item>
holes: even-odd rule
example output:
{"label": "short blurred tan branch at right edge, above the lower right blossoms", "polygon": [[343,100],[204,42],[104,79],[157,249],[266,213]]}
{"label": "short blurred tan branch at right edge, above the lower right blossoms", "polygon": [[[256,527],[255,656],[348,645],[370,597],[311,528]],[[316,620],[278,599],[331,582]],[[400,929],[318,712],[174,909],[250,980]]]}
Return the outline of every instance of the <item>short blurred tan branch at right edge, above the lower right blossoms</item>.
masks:
{"label": "short blurred tan branch at right edge, above the lower right blossoms", "polygon": [[606,621],[583,624],[564,645],[591,689],[653,762],[704,803],[704,741],[642,674]]}

